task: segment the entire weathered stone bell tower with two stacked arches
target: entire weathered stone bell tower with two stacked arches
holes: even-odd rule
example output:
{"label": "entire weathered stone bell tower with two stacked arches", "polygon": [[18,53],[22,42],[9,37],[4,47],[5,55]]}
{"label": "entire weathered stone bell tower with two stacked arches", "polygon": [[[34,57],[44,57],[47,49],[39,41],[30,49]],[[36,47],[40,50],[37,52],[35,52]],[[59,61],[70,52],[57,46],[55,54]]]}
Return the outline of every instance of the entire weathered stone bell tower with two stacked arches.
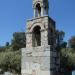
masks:
{"label": "entire weathered stone bell tower with two stacked arches", "polygon": [[58,75],[55,21],[48,16],[48,0],[33,0],[34,18],[27,21],[22,48],[22,75]]}

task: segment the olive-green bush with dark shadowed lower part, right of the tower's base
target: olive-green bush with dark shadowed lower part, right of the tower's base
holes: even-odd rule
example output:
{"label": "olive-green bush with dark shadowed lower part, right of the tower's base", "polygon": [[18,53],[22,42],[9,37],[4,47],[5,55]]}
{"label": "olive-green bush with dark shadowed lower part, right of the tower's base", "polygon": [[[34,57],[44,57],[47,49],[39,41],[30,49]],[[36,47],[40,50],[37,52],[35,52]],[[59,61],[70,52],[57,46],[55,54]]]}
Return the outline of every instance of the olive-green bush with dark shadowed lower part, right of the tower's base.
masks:
{"label": "olive-green bush with dark shadowed lower part, right of the tower's base", "polygon": [[61,65],[68,70],[75,69],[75,51],[72,48],[61,50]]}

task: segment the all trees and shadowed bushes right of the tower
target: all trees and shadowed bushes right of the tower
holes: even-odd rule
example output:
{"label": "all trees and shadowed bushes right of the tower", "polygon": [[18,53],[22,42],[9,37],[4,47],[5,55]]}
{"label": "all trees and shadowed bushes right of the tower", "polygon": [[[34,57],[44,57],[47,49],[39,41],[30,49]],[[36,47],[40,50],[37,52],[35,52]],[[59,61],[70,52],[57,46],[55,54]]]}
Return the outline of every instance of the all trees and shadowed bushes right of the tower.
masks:
{"label": "all trees and shadowed bushes right of the tower", "polygon": [[75,69],[75,37],[69,40],[69,48],[67,48],[67,42],[63,41],[64,35],[63,31],[56,32],[57,50],[60,52],[61,68],[72,71]]}

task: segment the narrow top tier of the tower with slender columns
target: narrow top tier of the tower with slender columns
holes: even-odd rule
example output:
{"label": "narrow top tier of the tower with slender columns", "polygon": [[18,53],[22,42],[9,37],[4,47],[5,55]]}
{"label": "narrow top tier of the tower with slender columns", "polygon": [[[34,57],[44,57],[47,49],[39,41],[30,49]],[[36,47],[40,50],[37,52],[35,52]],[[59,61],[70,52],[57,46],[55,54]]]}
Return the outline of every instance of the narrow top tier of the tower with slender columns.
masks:
{"label": "narrow top tier of the tower with slender columns", "polygon": [[33,0],[34,17],[48,15],[48,0]]}

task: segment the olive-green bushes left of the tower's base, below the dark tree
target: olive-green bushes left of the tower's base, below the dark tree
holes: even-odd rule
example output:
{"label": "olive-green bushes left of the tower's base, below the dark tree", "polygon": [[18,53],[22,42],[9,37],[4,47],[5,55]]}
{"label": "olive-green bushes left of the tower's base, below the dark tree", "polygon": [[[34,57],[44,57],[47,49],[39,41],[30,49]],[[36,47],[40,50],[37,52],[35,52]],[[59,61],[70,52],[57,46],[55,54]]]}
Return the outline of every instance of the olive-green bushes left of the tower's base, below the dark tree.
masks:
{"label": "olive-green bushes left of the tower's base, below the dark tree", "polygon": [[21,52],[9,51],[0,53],[0,68],[3,71],[15,71],[20,73],[21,69]]}

